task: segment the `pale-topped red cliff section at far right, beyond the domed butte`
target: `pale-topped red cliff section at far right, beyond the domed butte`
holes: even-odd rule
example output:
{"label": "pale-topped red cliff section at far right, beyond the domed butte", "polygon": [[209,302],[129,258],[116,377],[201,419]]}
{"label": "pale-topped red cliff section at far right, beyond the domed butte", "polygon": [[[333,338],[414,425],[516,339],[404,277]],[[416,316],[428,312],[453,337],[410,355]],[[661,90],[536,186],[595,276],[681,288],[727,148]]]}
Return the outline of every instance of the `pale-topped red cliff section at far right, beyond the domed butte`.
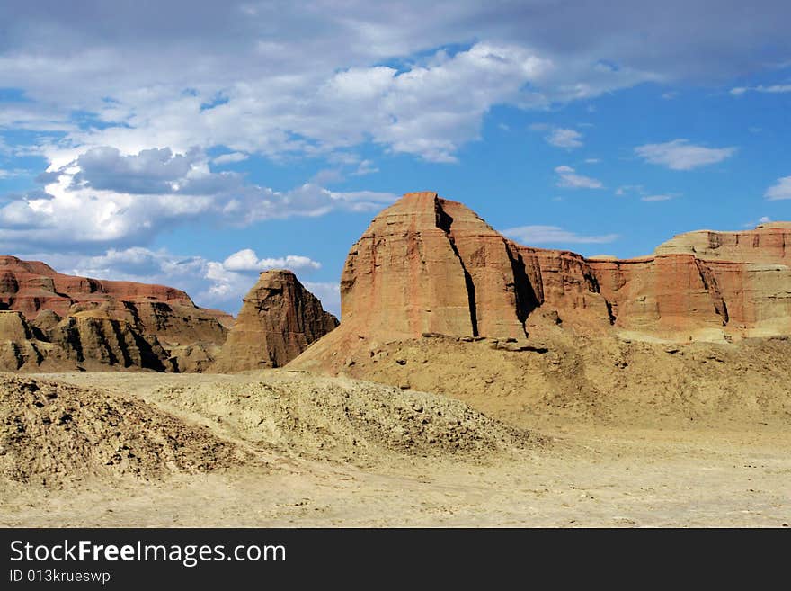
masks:
{"label": "pale-topped red cliff section at far right, beyond the domed butte", "polygon": [[618,326],[695,340],[791,334],[791,223],[690,232],[653,257],[591,261]]}

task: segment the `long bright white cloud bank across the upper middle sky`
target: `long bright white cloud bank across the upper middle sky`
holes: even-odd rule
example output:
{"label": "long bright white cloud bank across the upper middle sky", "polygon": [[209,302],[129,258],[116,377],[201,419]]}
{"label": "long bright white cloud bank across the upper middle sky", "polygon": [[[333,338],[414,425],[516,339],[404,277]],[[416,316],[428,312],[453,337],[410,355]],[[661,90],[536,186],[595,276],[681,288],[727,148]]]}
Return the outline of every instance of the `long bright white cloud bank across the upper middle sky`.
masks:
{"label": "long bright white cloud bank across the upper middle sky", "polygon": [[[216,88],[197,94],[171,85],[129,88],[113,92],[110,103],[93,105],[109,127],[71,130],[68,148],[47,148],[46,156],[62,164],[74,157],[74,146],[108,145],[129,154],[165,145],[179,153],[223,146],[234,154],[277,158],[329,155],[373,141],[392,152],[454,162],[458,148],[479,138],[494,105],[555,100],[554,92],[550,98],[524,89],[542,81],[554,87],[554,67],[551,59],[520,45],[482,41],[452,56],[440,51],[404,71],[346,66],[240,77],[219,89],[224,102],[209,106],[205,94],[217,94]],[[573,91],[579,93],[600,90],[591,84]],[[564,96],[561,91],[556,98]]]}

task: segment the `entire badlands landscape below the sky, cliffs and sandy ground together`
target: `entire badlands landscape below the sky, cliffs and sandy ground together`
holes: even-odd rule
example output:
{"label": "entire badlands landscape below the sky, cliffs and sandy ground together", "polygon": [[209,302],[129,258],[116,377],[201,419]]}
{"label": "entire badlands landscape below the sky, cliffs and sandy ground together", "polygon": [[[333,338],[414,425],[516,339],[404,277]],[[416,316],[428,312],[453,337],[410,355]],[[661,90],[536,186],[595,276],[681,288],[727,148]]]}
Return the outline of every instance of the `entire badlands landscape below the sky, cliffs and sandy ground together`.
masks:
{"label": "entire badlands landscape below the sky, cliffs and sandy ground together", "polygon": [[235,320],[2,257],[0,524],[788,526],[789,244],[586,259],[409,193],[340,325],[286,271]]}

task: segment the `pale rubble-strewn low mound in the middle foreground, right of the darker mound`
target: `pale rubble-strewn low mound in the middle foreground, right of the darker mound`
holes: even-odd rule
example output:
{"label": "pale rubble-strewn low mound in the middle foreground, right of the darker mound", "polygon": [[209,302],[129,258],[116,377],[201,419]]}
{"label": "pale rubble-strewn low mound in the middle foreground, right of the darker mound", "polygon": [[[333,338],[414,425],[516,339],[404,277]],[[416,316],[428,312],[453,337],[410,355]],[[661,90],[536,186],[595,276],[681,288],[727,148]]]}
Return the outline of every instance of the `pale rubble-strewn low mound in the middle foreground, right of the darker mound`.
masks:
{"label": "pale rubble-strewn low mound in the middle foreground, right of the darker mound", "polygon": [[302,372],[241,378],[160,386],[152,398],[209,417],[231,436],[341,461],[394,453],[463,460],[531,441],[455,399]]}

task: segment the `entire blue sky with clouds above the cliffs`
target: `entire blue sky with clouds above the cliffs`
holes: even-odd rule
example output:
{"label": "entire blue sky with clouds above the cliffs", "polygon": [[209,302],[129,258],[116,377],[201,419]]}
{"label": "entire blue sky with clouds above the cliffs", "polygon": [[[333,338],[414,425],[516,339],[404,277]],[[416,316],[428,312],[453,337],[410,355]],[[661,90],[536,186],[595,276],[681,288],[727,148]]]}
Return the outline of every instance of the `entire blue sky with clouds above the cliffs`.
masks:
{"label": "entire blue sky with clouds above the cliffs", "polygon": [[791,219],[791,5],[601,4],[5,2],[0,252],[337,313],[409,191],[584,255]]}

